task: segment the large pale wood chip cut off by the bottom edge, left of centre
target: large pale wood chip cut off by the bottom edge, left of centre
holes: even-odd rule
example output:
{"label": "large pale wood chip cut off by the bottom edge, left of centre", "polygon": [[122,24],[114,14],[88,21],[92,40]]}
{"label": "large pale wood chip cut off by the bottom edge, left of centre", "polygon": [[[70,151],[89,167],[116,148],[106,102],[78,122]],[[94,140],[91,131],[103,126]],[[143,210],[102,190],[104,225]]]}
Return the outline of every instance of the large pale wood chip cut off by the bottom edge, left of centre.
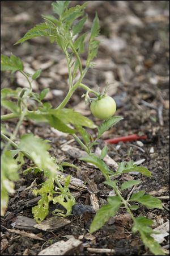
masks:
{"label": "large pale wood chip cut off by the bottom edge, left of centre", "polygon": [[40,251],[38,255],[73,255],[74,251],[78,250],[81,244],[81,241],[72,237],[66,242],[61,240],[54,243],[53,245]]}

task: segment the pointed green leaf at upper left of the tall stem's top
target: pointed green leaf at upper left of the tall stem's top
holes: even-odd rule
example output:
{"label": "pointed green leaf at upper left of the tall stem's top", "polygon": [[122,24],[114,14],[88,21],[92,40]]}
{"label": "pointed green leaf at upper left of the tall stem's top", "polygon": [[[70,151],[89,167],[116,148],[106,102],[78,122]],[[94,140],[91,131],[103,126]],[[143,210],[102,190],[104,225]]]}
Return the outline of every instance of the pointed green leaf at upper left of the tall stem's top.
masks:
{"label": "pointed green leaf at upper left of the tall stem's top", "polygon": [[36,38],[37,36],[50,36],[49,31],[50,25],[46,23],[37,24],[35,27],[28,30],[28,32],[23,36],[23,38],[19,39],[18,42],[14,44],[23,43],[29,39]]}

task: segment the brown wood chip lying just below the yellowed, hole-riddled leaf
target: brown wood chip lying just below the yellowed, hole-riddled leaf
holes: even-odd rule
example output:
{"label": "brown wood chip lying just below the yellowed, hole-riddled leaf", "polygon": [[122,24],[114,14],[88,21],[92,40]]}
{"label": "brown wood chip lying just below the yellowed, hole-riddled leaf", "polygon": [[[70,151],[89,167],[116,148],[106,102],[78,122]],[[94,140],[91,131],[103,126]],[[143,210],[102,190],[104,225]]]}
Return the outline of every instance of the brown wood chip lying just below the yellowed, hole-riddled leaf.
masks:
{"label": "brown wood chip lying just below the yellowed, hole-riddled leaf", "polygon": [[70,220],[67,220],[66,218],[60,218],[58,216],[54,216],[52,218],[49,218],[48,220],[42,221],[40,224],[34,225],[35,228],[41,229],[44,231],[57,231],[61,228],[63,228],[66,225],[69,225],[71,223]]}

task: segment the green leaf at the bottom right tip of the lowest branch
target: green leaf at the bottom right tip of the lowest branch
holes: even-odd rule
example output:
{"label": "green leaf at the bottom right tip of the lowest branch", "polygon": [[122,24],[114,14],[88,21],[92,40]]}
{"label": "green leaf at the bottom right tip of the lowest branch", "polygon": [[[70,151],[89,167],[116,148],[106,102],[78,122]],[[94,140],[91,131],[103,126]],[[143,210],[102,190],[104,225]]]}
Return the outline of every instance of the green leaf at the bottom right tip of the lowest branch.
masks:
{"label": "green leaf at the bottom right tip of the lowest branch", "polygon": [[141,234],[142,242],[148,247],[148,249],[150,249],[151,253],[154,255],[165,255],[159,243],[156,242],[153,237],[151,237],[151,234],[154,232],[149,226],[152,224],[154,224],[154,221],[140,216],[135,219],[132,230],[134,233],[138,231]]}

